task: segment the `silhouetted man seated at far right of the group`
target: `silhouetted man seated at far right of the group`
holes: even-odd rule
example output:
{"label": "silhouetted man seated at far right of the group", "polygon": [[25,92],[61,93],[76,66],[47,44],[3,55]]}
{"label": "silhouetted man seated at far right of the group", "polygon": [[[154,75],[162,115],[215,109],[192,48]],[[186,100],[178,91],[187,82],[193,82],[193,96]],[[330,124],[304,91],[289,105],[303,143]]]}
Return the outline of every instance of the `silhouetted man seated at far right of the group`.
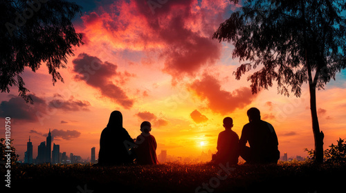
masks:
{"label": "silhouetted man seated at far right of the group", "polygon": [[[240,156],[246,163],[277,163],[280,152],[273,125],[261,120],[260,110],[250,108],[239,140]],[[246,146],[246,142],[250,147]]]}

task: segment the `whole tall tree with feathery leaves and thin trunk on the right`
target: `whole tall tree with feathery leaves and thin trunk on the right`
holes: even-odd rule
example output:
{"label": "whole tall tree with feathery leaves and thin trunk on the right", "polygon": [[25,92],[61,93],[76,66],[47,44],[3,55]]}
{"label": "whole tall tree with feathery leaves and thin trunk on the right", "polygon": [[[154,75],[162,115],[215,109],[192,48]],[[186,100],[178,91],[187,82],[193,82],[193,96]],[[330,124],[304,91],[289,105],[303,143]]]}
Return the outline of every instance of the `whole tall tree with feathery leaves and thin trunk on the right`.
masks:
{"label": "whole tall tree with feathery leaves and thin trunk on the right", "polygon": [[[230,0],[238,3],[238,0]],[[235,45],[233,58],[243,61],[233,74],[249,75],[253,93],[277,82],[277,92],[297,97],[309,83],[316,161],[323,161],[323,132],[316,111],[316,88],[323,89],[346,67],[345,1],[248,0],[221,23],[213,38]]]}

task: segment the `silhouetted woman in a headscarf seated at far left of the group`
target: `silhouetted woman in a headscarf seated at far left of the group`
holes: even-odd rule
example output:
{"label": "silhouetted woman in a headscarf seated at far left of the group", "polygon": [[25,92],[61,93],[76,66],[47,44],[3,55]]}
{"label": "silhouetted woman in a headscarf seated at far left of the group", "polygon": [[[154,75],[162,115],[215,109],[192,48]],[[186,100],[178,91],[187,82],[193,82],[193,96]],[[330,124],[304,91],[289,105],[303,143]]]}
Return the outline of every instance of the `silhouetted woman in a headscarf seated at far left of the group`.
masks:
{"label": "silhouetted woman in a headscarf seated at far left of the group", "polygon": [[98,165],[133,163],[134,158],[129,154],[124,141],[134,143],[127,130],[122,128],[121,112],[116,110],[111,112],[107,127],[101,133]]}

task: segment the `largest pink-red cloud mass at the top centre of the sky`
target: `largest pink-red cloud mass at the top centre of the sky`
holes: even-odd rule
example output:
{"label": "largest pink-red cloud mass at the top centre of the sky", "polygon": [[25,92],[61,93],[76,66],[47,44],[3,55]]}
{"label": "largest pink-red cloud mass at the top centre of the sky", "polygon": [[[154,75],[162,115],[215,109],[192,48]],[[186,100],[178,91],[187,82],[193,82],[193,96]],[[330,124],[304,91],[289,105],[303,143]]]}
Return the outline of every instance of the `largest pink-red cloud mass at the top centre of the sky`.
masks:
{"label": "largest pink-red cloud mass at the top centre of the sky", "polygon": [[164,60],[163,71],[171,74],[175,83],[219,59],[221,43],[211,37],[229,8],[226,0],[124,0],[115,1],[110,8],[102,6],[82,20],[91,41],[110,41],[116,49],[158,53]]}

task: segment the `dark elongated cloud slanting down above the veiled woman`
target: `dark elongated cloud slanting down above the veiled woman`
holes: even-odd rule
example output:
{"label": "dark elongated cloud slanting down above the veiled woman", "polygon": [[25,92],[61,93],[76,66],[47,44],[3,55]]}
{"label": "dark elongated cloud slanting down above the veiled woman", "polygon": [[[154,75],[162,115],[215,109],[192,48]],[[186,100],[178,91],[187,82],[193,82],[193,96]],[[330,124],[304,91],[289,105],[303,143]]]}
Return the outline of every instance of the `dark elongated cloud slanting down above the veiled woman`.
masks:
{"label": "dark elongated cloud slanting down above the veiled woman", "polygon": [[75,79],[85,81],[86,84],[100,90],[102,96],[106,96],[112,101],[129,109],[134,105],[134,100],[129,99],[122,88],[115,85],[110,79],[119,74],[116,71],[117,65],[109,62],[102,62],[98,57],[82,53],[73,61],[73,72],[76,72]]}

